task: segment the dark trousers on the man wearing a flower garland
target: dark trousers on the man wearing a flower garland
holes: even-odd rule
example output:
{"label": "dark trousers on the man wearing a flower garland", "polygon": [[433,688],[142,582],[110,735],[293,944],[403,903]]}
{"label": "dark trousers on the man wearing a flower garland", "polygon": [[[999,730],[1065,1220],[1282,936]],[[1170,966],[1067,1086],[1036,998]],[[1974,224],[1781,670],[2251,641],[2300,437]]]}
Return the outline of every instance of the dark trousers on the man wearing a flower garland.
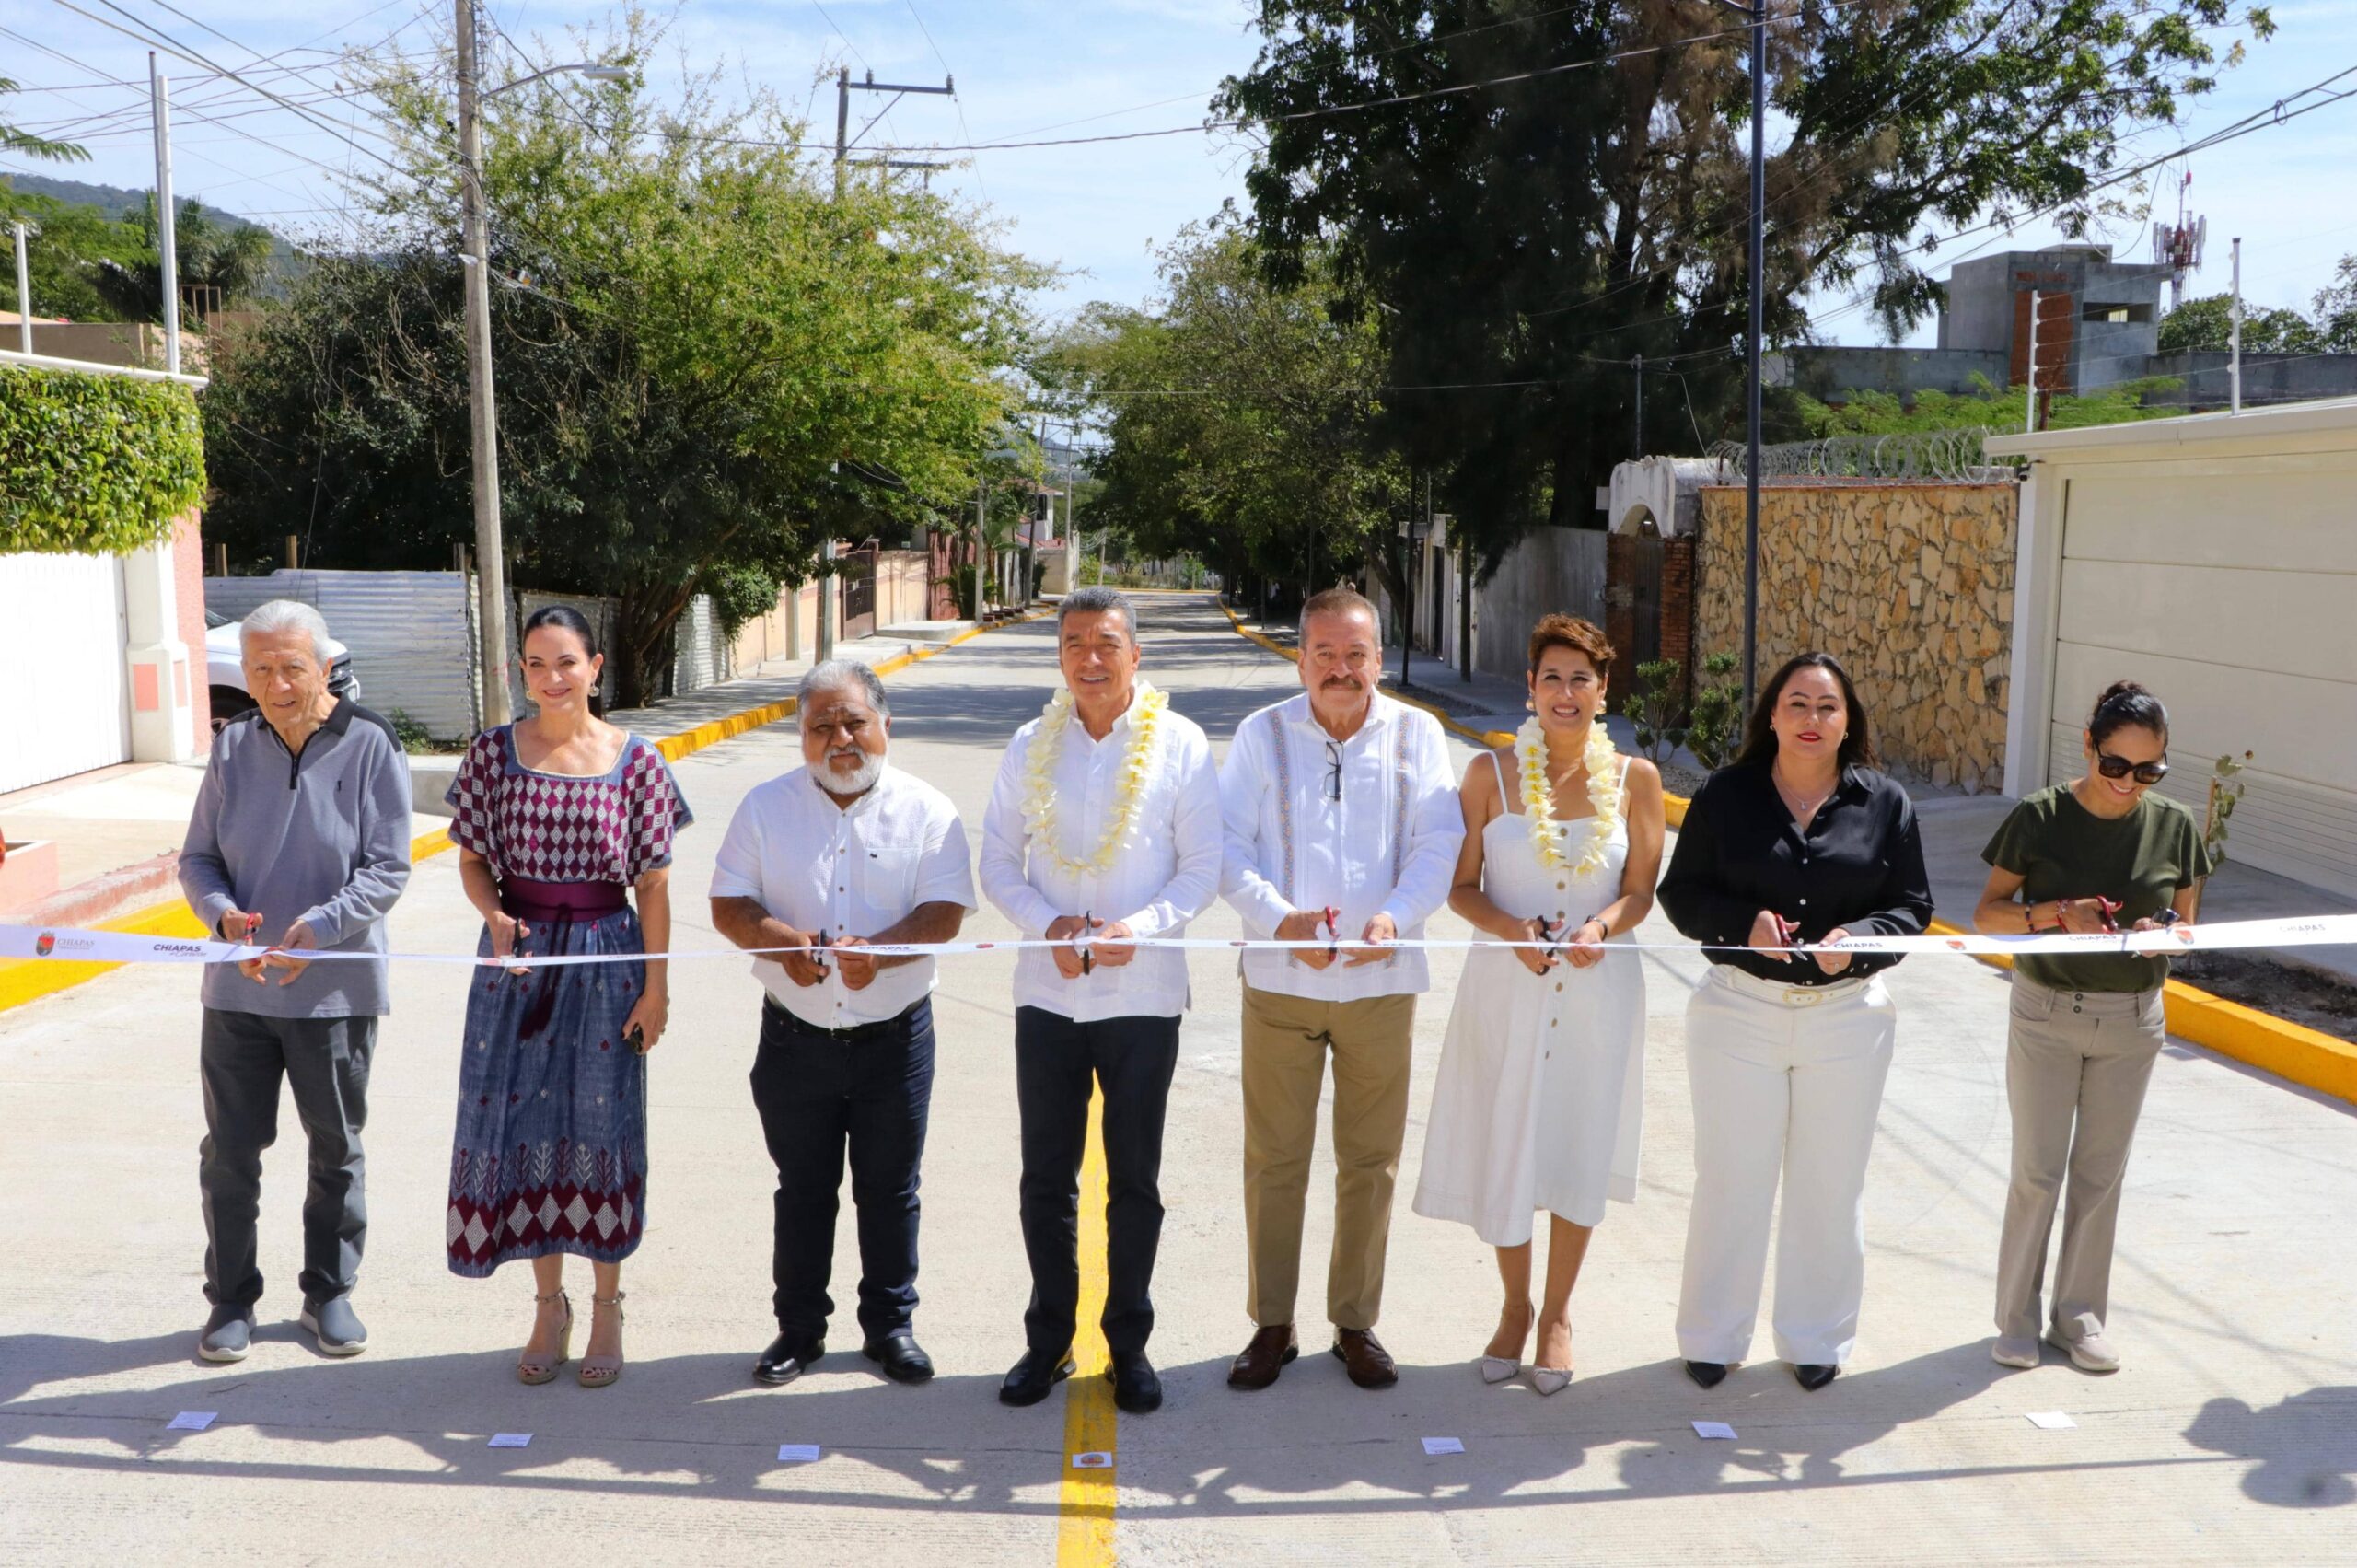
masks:
{"label": "dark trousers on the man wearing a flower garland", "polygon": [[1105,1096],[1105,1349],[1143,1351],[1155,1332],[1162,1113],[1176,1066],[1178,1019],[1075,1023],[1044,1007],[1016,1009],[1023,1250],[1032,1266],[1023,1339],[1032,1349],[1070,1346],[1080,1313],[1080,1160],[1091,1080]]}

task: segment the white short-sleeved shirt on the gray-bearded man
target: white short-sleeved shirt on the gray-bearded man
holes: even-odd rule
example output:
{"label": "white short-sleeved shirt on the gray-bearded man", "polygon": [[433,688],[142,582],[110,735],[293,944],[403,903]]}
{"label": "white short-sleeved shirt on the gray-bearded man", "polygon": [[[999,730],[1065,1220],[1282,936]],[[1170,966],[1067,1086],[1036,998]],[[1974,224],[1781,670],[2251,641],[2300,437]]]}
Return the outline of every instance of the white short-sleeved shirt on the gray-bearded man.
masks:
{"label": "white short-sleeved shirt on the gray-bearded man", "polygon": [[[874,938],[922,903],[973,908],[966,828],[948,795],[896,766],[849,806],[837,806],[811,769],[794,769],[738,804],[712,896],[752,898],[797,931]],[[775,957],[757,957],[752,971],[813,1028],[879,1023],[933,990],[931,957],[877,967],[865,990],[844,986],[832,962],[818,986],[797,986]]]}

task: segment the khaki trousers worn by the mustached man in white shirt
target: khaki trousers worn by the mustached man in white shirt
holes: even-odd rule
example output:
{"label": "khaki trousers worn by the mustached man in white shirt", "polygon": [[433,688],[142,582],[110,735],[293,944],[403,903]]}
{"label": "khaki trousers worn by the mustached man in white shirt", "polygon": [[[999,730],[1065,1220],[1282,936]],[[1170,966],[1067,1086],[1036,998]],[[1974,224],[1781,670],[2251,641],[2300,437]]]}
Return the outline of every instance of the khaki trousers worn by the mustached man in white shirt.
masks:
{"label": "khaki trousers worn by the mustached man in white shirt", "polygon": [[1334,1254],[1327,1259],[1327,1318],[1334,1327],[1374,1327],[1384,1311],[1414,1026],[1414,995],[1313,1002],[1244,986],[1244,1238],[1252,1250],[1244,1309],[1259,1327],[1294,1320],[1301,1210],[1329,1052]]}

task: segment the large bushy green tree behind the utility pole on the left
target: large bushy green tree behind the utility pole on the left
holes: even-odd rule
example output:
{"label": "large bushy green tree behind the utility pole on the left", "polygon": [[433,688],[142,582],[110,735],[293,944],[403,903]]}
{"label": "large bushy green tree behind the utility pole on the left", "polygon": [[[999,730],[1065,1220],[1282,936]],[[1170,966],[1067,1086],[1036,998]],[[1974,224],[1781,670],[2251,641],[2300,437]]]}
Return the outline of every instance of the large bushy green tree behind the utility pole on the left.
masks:
{"label": "large bushy green tree behind the utility pole on the left", "polygon": [[[660,35],[629,14],[606,42]],[[363,182],[377,233],[207,394],[210,523],[247,559],[297,533],[328,564],[445,566],[474,533],[448,80],[387,59],[372,90],[398,165]],[[674,108],[552,78],[488,111],[509,580],[620,599],[625,700],[693,594],[745,608],[823,533],[955,519],[1011,401],[1044,271],[924,191],[832,198],[797,141],[771,104],[714,108],[709,75]]]}

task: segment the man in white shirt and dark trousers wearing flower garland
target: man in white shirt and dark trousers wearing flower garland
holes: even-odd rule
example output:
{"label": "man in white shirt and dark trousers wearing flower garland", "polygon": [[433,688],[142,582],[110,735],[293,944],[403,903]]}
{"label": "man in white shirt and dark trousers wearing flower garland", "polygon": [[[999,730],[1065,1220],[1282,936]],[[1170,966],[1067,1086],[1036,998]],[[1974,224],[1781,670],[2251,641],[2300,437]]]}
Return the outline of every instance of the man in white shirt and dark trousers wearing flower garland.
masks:
{"label": "man in white shirt and dark trousers wearing flower garland", "polygon": [[[1072,1375],[1080,1311],[1080,1158],[1089,1085],[1103,1094],[1105,1346],[1113,1401],[1162,1405],[1146,1358],[1162,1240],[1162,1115],[1188,1007],[1183,936],[1219,896],[1211,747],[1138,679],[1138,622],[1108,587],[1056,611],[1063,689],[1016,731],[983,816],[983,894],[1016,929],[1063,943],[1016,960],[1023,1247],[1032,1299],[999,1398],[1035,1405]],[[1070,941],[1080,938],[1080,941]]]}

